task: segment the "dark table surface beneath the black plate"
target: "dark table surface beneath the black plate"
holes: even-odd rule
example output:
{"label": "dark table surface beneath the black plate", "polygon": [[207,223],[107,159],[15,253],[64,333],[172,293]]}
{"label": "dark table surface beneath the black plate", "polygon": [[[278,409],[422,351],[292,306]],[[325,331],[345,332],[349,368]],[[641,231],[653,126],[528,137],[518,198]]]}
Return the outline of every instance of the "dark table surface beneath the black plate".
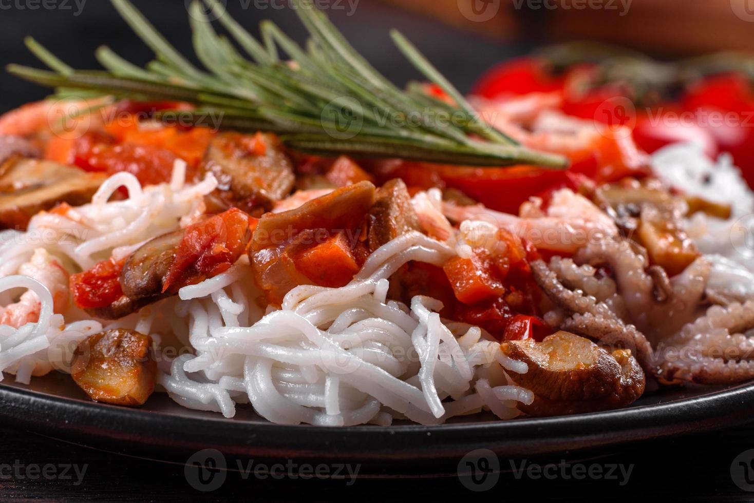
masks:
{"label": "dark table surface beneath the black plate", "polygon": [[[511,463],[517,470],[524,460],[500,459],[503,472],[489,475],[497,477],[497,481],[485,480],[488,485],[492,480],[494,485],[481,492],[472,492],[467,486],[480,489],[486,487],[484,482],[475,485],[468,478],[458,477],[275,480],[264,474],[244,478],[242,473],[234,471],[225,473],[225,482],[218,489],[200,492],[192,486],[191,477],[187,479],[185,465],[136,459],[26,431],[0,428],[0,499],[186,501],[201,497],[210,501],[231,498],[291,501],[293,495],[302,495],[305,501],[342,501],[343,497],[354,498],[354,501],[410,499],[421,502],[438,497],[491,501],[518,498],[526,498],[523,501],[754,501],[754,492],[743,491],[731,477],[731,464],[740,453],[752,448],[754,425],[613,448],[590,453],[587,458],[562,453],[552,456],[550,462],[562,464],[566,459],[566,468],[550,470],[549,477],[532,478],[526,471],[516,477]],[[746,461],[750,462],[751,458],[747,457]],[[545,460],[539,462],[546,463]],[[67,465],[75,466],[66,468]],[[584,468],[577,468],[578,465]],[[620,465],[624,467],[622,472]],[[745,486],[748,475],[754,484],[754,471],[749,468],[751,474],[745,474],[737,462],[735,468],[739,483]],[[614,476],[609,475],[611,471]],[[630,471],[629,477],[624,476],[627,471]],[[576,480],[582,472],[584,478]],[[536,470],[530,473],[537,477]],[[754,489],[754,485],[749,489]]]}

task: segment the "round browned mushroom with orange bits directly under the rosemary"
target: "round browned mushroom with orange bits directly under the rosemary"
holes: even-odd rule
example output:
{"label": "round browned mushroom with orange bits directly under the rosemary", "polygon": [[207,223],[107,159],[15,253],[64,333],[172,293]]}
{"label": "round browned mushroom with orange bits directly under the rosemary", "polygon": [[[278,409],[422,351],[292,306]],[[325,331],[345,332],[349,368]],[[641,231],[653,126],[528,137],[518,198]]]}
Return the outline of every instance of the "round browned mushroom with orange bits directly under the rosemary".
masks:
{"label": "round browned mushroom with orange bits directly under the rosemary", "polygon": [[219,182],[210,197],[216,212],[230,207],[250,214],[270,210],[274,201],[290,194],[296,182],[293,163],[277,136],[267,133],[219,134],[207,149],[203,170]]}

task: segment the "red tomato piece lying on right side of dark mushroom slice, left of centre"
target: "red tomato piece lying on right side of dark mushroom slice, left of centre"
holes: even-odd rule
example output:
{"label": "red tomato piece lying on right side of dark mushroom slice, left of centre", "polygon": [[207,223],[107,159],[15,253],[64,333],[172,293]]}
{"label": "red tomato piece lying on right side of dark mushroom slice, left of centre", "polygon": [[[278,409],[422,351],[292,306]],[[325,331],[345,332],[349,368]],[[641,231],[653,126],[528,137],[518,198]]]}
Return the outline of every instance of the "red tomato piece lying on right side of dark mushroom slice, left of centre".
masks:
{"label": "red tomato piece lying on right side of dark mushroom slice, left of centre", "polygon": [[256,218],[233,208],[186,228],[165,276],[163,293],[230,269],[246,252],[256,222]]}

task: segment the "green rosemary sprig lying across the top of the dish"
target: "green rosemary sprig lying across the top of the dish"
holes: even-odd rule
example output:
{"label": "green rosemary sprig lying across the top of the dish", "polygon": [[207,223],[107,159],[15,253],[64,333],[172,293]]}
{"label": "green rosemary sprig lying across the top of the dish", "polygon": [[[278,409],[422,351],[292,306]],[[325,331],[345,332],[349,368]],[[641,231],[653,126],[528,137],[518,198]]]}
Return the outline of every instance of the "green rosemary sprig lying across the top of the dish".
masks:
{"label": "green rosemary sprig lying across the top of the dish", "polygon": [[[393,32],[400,51],[426,78],[440,86],[455,105],[402,90],[375,70],[311,0],[293,0],[311,38],[296,44],[269,21],[260,25],[261,41],[232,20],[218,0],[204,0],[242,54],[218,35],[200,0],[190,6],[198,69],[164,38],[128,0],[112,4],[155,52],[146,68],[133,65],[108,47],[97,50],[104,72],[72,69],[33,39],[27,47],[50,71],[10,65],[28,81],[55,87],[71,96],[170,99],[222,117],[222,127],[280,133],[290,148],[323,155],[403,157],[477,166],[536,164],[563,168],[563,157],[532,151],[489,126],[461,93],[421,55],[406,37]],[[290,61],[280,59],[287,54]],[[185,114],[185,112],[183,112]],[[189,114],[190,115],[190,114]]]}

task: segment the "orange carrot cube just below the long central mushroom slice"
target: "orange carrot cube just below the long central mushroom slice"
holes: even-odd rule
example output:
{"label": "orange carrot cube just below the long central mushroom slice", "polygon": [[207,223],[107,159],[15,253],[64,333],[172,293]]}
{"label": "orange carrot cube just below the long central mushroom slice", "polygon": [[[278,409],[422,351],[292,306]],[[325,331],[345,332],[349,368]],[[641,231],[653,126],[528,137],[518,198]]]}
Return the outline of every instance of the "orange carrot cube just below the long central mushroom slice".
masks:
{"label": "orange carrot cube just below the long central mushroom slice", "polygon": [[296,269],[317,285],[339,288],[354,279],[359,265],[345,233],[340,232],[296,257]]}

